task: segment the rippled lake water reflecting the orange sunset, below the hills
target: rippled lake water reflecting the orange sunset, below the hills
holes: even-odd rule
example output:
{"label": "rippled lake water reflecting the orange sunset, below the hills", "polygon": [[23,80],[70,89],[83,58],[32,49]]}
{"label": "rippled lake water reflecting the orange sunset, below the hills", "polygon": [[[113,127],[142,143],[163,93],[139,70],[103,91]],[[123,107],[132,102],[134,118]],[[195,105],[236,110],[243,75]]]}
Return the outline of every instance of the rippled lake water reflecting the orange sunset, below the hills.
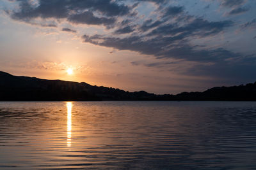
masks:
{"label": "rippled lake water reflecting the orange sunset, below the hills", "polygon": [[0,169],[256,169],[253,102],[2,102]]}

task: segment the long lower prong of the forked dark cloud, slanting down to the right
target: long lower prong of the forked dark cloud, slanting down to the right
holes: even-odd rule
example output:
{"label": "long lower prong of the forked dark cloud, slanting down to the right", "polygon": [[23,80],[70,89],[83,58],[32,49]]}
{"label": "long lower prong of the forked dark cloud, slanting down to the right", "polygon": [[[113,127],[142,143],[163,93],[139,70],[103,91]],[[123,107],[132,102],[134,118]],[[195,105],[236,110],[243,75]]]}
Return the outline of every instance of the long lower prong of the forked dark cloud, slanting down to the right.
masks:
{"label": "long lower prong of the forked dark cloud, slanting down to the right", "polygon": [[195,47],[187,43],[180,43],[181,39],[175,37],[144,40],[144,38],[140,36],[113,38],[99,35],[84,35],[83,39],[84,42],[95,45],[154,55],[158,59],[175,58],[198,62],[218,62],[220,60],[241,56],[239,53],[233,53],[223,48],[217,48],[215,50],[196,50]]}

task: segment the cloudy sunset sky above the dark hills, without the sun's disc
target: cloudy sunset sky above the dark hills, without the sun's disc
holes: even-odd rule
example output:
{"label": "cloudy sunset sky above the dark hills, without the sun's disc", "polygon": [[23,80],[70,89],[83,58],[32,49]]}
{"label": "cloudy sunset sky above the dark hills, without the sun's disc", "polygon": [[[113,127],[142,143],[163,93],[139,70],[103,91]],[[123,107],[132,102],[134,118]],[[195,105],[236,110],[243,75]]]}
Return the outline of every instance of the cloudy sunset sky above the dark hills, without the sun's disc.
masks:
{"label": "cloudy sunset sky above the dark hills, without the sun's disc", "polygon": [[0,0],[0,71],[156,94],[252,83],[255,9],[255,0]]}

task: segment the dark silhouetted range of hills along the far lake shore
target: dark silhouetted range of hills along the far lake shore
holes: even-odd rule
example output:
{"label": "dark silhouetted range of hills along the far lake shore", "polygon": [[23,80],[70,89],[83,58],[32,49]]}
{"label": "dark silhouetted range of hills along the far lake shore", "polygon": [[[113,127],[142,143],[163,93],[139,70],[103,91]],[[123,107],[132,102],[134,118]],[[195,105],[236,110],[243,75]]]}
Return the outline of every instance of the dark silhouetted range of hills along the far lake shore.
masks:
{"label": "dark silhouetted range of hills along the far lake shore", "polygon": [[13,76],[0,71],[0,101],[256,101],[256,82],[204,92],[156,95],[88,83]]}

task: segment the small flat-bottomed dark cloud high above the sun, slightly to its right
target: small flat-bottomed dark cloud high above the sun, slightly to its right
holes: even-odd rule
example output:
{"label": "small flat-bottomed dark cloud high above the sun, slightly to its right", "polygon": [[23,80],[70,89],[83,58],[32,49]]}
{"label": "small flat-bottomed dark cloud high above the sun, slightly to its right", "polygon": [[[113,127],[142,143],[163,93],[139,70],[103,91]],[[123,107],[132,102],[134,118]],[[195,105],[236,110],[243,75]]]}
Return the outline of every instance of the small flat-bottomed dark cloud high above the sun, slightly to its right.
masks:
{"label": "small flat-bottomed dark cloud high above the sun, slightly to its right", "polygon": [[68,21],[74,24],[111,25],[115,22],[115,18],[95,17],[92,12],[84,11],[83,13],[70,15]]}

